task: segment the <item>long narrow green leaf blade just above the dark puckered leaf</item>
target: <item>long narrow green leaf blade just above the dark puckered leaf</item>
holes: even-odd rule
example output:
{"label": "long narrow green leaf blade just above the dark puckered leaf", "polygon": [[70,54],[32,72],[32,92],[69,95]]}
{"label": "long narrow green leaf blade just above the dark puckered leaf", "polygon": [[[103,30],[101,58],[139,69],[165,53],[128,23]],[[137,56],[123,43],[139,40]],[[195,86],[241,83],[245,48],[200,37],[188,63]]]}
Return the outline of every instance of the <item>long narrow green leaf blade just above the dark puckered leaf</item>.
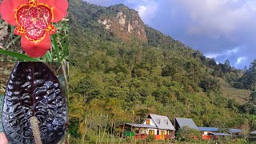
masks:
{"label": "long narrow green leaf blade just above the dark puckered leaf", "polygon": [[26,54],[20,54],[20,53],[9,51],[9,50],[0,50],[0,54],[8,55],[8,56],[13,57],[13,58],[18,58],[18,59],[20,59],[22,61],[40,62],[40,60],[37,59],[37,58],[30,58]]}

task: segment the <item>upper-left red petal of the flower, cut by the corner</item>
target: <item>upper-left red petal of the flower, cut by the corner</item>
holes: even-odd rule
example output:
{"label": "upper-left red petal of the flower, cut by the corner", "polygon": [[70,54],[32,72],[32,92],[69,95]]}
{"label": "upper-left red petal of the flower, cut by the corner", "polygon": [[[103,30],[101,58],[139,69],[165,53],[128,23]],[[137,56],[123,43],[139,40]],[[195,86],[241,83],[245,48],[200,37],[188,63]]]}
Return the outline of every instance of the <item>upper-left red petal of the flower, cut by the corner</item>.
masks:
{"label": "upper-left red petal of the flower, cut by the corner", "polygon": [[27,0],[3,0],[0,14],[2,14],[2,19],[8,22],[10,25],[17,26],[18,23],[15,20],[15,10],[19,8],[19,6],[26,4]]}

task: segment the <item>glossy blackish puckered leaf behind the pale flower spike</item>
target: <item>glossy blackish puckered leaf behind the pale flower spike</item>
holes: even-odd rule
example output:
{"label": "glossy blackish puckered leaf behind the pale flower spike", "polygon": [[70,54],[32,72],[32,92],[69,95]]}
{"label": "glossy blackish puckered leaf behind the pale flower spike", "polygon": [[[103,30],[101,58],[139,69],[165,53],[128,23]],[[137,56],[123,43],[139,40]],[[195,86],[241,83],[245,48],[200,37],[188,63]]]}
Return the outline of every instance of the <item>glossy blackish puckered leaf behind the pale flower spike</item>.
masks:
{"label": "glossy blackish puckered leaf behind the pale flower spike", "polygon": [[[6,86],[2,109],[9,143],[37,142],[34,130],[39,130],[43,144],[58,143],[66,133],[66,119],[65,94],[50,68],[42,62],[18,62]],[[39,129],[32,130],[33,123]]]}

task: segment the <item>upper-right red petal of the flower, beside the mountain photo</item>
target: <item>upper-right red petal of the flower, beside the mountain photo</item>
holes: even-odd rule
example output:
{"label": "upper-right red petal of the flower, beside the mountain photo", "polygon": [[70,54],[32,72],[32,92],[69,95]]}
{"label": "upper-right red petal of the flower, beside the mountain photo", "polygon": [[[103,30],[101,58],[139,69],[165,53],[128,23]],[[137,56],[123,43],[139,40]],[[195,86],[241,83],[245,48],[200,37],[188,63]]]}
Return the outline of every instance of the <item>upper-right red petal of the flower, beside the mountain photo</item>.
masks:
{"label": "upper-right red petal of the flower, beside the mountain photo", "polygon": [[39,0],[39,4],[46,4],[54,8],[53,22],[59,22],[66,17],[69,2],[67,0]]}

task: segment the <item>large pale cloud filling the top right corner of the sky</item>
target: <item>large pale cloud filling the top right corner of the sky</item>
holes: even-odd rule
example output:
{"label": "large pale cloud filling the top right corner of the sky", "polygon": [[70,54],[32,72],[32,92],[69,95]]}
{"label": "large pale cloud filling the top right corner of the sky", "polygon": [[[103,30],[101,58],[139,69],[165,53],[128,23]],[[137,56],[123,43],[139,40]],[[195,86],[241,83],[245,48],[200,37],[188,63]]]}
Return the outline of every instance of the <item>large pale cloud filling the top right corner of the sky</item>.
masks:
{"label": "large pale cloud filling the top right corner of the sky", "polygon": [[190,18],[188,34],[230,38],[241,28],[248,28],[248,23],[256,22],[254,0],[176,0],[176,3]]}

